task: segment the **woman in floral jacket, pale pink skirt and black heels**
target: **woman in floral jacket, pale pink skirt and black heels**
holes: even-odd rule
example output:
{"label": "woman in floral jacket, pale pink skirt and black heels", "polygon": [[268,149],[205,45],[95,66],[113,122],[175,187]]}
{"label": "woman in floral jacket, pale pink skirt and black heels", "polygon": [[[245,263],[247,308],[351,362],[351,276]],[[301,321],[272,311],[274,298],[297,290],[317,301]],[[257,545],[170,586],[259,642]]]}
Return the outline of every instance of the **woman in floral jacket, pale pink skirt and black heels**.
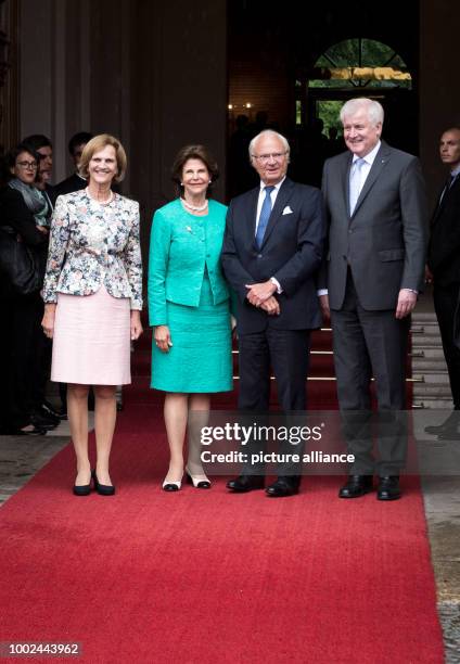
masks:
{"label": "woman in floral jacket, pale pink skirt and black heels", "polygon": [[[91,139],[82,153],[85,190],[60,196],[42,296],[42,328],[53,337],[51,380],[68,383],[67,412],[77,457],[74,494],[86,496],[91,476],[113,495],[108,457],[116,419],[116,385],[131,382],[130,340],[142,333],[139,204],[111,189],[126,170],[112,136]],[[94,387],[98,461],[88,458],[88,391]]]}

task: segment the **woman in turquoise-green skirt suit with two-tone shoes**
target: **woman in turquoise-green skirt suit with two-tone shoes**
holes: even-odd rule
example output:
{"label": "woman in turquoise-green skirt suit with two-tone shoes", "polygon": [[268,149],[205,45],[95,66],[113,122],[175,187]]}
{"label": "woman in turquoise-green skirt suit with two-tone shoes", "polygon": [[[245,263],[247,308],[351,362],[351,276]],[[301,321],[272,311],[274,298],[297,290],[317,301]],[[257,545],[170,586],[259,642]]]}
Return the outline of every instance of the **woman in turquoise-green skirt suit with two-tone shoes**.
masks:
{"label": "woman in turquoise-green skirt suit with two-tone shoes", "polygon": [[[229,290],[220,270],[225,205],[208,199],[217,164],[203,145],[187,145],[173,166],[179,197],[156,210],[149,263],[154,327],[151,386],[166,393],[170,460],[164,490],[180,489],[189,413],[206,417],[209,396],[232,390]],[[188,480],[209,488],[189,422]]]}

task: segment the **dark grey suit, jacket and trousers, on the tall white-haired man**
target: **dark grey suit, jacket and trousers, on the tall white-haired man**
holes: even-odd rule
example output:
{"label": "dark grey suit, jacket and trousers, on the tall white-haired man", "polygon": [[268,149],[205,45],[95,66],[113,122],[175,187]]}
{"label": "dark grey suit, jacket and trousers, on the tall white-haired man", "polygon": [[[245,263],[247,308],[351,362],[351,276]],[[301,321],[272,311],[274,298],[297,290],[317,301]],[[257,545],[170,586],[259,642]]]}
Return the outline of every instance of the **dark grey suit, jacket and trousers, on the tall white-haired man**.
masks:
{"label": "dark grey suit, jacket and trousers, on the tall white-haired man", "polygon": [[350,215],[352,162],[350,152],[328,159],[322,186],[329,248],[319,286],[329,291],[340,407],[369,410],[373,374],[379,410],[404,410],[409,317],[395,311],[400,289],[423,285],[423,178],[414,156],[382,141]]}

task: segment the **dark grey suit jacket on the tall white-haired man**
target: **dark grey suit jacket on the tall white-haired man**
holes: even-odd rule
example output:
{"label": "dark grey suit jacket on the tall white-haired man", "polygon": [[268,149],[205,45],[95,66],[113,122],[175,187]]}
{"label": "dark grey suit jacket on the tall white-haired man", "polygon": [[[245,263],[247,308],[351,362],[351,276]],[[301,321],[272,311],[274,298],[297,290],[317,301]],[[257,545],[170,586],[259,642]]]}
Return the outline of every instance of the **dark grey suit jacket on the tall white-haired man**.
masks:
{"label": "dark grey suit jacket on the tall white-haired man", "polygon": [[324,164],[329,303],[341,309],[349,266],[362,307],[394,310],[400,289],[423,286],[427,220],[419,161],[382,141],[350,216],[352,159],[345,152]]}

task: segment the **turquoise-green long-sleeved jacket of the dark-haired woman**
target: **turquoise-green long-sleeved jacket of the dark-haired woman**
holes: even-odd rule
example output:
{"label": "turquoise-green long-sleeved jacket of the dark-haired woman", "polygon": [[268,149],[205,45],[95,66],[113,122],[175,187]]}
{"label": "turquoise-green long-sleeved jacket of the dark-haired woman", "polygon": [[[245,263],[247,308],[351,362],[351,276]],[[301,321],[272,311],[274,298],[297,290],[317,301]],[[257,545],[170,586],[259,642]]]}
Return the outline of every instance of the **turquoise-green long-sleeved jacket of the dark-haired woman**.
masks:
{"label": "turquoise-green long-sleeved jacket of the dark-haired woman", "polygon": [[220,269],[227,207],[209,201],[209,214],[186,212],[178,199],[156,210],[149,256],[149,320],[166,325],[166,302],[197,307],[205,267],[214,304],[229,299]]}

